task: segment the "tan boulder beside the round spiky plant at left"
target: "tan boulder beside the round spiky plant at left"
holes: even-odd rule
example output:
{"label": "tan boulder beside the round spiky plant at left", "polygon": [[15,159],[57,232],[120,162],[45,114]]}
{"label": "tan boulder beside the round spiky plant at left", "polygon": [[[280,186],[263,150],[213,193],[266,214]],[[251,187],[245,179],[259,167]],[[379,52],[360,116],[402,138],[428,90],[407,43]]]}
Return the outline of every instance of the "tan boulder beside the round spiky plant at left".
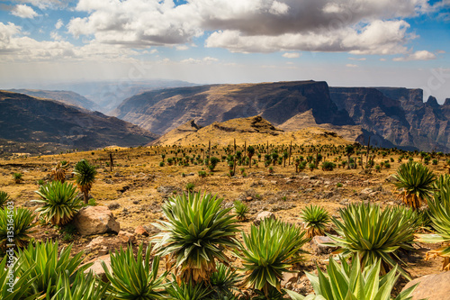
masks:
{"label": "tan boulder beside the round spiky plant at left", "polygon": [[120,232],[121,225],[106,206],[87,206],[76,214],[74,225],[81,235]]}

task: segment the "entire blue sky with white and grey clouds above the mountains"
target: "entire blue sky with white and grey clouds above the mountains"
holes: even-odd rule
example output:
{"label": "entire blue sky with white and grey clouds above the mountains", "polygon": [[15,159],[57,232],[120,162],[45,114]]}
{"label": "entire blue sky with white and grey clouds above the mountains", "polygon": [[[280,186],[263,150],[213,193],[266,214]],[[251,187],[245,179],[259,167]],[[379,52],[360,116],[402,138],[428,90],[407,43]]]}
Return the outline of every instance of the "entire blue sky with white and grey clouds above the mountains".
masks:
{"label": "entire blue sky with white and grey clouds above the mountains", "polygon": [[0,87],[326,80],[450,97],[450,0],[0,2]]}

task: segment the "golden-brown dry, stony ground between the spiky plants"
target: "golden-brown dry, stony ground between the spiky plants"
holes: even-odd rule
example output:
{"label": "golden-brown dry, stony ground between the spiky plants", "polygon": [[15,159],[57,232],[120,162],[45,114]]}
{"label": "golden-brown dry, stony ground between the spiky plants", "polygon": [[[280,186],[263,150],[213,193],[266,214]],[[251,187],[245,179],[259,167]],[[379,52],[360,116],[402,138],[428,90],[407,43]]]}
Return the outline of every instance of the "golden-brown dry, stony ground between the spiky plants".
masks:
{"label": "golden-brown dry, stony ground between the spiky plants", "polygon": [[[54,168],[58,161],[67,160],[73,167],[79,159],[87,159],[97,166],[98,175],[91,191],[92,197],[97,205],[108,205],[112,208],[112,213],[121,223],[121,230],[134,232],[138,225],[143,225],[150,234],[156,233],[157,229],[152,225],[163,219],[161,205],[164,200],[171,195],[181,194],[185,190],[187,183],[193,183],[195,191],[202,191],[218,195],[224,199],[224,206],[229,207],[233,201],[239,199],[244,201],[250,208],[247,222],[242,222],[242,230],[247,232],[253,219],[261,211],[273,212],[276,218],[289,223],[301,225],[299,215],[306,205],[321,205],[329,211],[332,216],[338,217],[338,209],[345,205],[361,202],[373,202],[383,206],[400,205],[401,200],[396,199],[392,178],[395,170],[400,166],[398,154],[388,154],[382,157],[377,154],[375,164],[393,159],[391,168],[383,168],[381,172],[365,174],[365,170],[358,166],[356,169],[335,168],[333,171],[313,171],[304,170],[295,173],[295,166],[276,165],[274,173],[269,174],[264,168],[264,163],[258,162],[258,166],[237,167],[235,177],[227,176],[229,168],[226,162],[220,162],[215,171],[207,177],[199,177],[198,171],[207,170],[204,166],[190,164],[184,166],[167,166],[168,158],[173,158],[174,150],[171,147],[150,147],[138,149],[105,149],[88,152],[66,153],[52,156],[41,156],[31,158],[17,158],[0,160],[0,190],[11,195],[16,205],[26,206],[35,209],[32,199],[38,199],[35,191],[38,189],[37,181],[42,179],[49,181],[51,168]],[[187,155],[203,155],[198,148],[184,149]],[[191,150],[192,152],[189,152]],[[218,153],[216,153],[218,151]],[[293,150],[293,158],[302,155],[306,158],[309,153],[298,153]],[[159,167],[161,153],[166,152],[165,166]],[[109,167],[109,153],[112,153],[114,167]],[[324,155],[326,151],[322,155]],[[181,153],[177,154],[178,157]],[[215,149],[211,156],[220,158],[225,155],[223,150]],[[333,161],[338,155],[325,156],[325,160]],[[254,159],[257,159],[254,156]],[[264,153],[263,158],[264,159]],[[338,161],[347,159],[342,156]],[[414,157],[420,161],[420,157]],[[365,160],[365,159],[364,159]],[[406,162],[403,159],[402,162]],[[444,159],[439,159],[437,166],[429,165],[438,174],[447,173]],[[240,174],[239,168],[245,168],[245,175]],[[73,168],[70,168],[72,170]],[[14,183],[12,174],[14,172],[23,173],[23,182]],[[69,173],[69,172],[68,172]],[[74,182],[71,178],[68,182]],[[93,237],[80,237],[76,235],[73,241],[63,239],[63,234],[55,228],[38,225],[33,234],[36,240],[59,241],[61,247],[73,242],[73,253],[85,250],[85,261],[105,254],[107,250],[112,250],[113,245],[106,251],[86,249],[87,244]],[[149,238],[140,237],[138,243],[142,241],[148,244]],[[406,268],[411,277],[438,273],[441,269],[441,259],[425,261],[425,253],[430,249],[436,249],[435,244],[418,244],[417,252],[410,253],[406,258],[408,267]],[[310,250],[308,244],[305,250]],[[325,267],[326,255],[316,256],[310,254],[306,256],[305,262],[299,268],[312,271],[315,262],[319,262],[321,267]],[[237,262],[238,263],[238,262]],[[299,276],[302,277],[302,273]],[[300,291],[308,292],[311,286],[300,282]],[[304,281],[304,280],[303,280]],[[404,281],[398,283],[397,289],[405,284]]]}

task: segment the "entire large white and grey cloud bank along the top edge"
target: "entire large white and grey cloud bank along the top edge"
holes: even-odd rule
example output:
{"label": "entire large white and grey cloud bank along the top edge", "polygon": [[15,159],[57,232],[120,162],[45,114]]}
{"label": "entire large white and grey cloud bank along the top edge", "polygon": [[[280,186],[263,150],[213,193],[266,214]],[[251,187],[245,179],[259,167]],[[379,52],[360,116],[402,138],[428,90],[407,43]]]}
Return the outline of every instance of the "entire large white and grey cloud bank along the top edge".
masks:
{"label": "entire large white and grey cloud bank along the top edge", "polygon": [[402,18],[429,9],[427,0],[79,0],[76,10],[88,15],[67,29],[134,48],[184,44],[212,32],[207,47],[234,52],[398,54],[413,37]]}

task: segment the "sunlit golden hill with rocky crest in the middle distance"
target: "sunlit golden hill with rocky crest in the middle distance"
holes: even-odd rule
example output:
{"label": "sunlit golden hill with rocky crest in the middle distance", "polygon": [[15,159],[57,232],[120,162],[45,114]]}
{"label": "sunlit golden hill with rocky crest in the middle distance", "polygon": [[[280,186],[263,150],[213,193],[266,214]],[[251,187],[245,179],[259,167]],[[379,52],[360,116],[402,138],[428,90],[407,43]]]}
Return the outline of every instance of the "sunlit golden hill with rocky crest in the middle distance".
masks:
{"label": "sunlit golden hill with rocky crest in the middle distance", "polygon": [[296,132],[284,132],[263,117],[257,115],[249,118],[232,119],[223,123],[212,123],[206,127],[199,127],[193,120],[167,132],[148,145],[195,145],[211,144],[229,145],[234,140],[247,144],[296,144],[305,145],[345,145],[353,141],[347,141],[338,136],[336,132],[329,132],[320,127],[304,128]]}

